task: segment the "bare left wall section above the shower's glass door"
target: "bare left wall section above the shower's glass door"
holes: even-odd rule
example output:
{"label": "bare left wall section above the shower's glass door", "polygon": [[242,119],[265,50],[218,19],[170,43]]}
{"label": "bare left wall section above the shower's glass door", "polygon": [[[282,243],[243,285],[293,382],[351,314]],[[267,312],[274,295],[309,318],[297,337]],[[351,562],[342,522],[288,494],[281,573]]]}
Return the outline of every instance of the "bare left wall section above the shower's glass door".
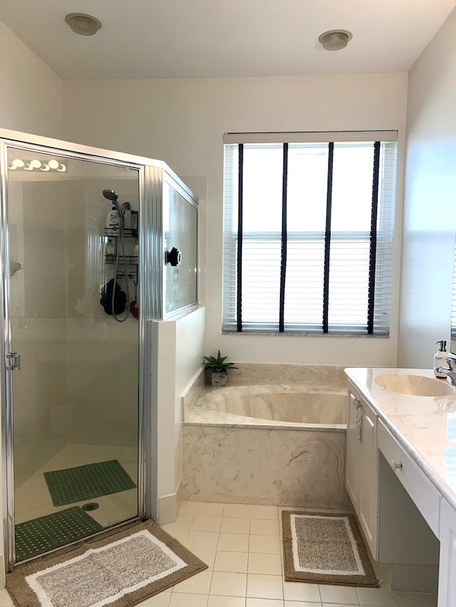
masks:
{"label": "bare left wall section above the shower's glass door", "polygon": [[61,79],[1,21],[0,57],[0,127],[61,138]]}

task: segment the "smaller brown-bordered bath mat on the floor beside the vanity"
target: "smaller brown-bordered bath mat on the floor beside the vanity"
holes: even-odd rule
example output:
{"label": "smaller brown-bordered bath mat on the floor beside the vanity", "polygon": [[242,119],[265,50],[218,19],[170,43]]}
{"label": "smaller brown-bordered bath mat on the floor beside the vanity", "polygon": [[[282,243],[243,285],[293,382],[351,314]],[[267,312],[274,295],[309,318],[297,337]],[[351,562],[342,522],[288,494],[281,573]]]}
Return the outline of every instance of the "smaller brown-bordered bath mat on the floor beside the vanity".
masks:
{"label": "smaller brown-bordered bath mat on the floor beside the vanity", "polygon": [[353,514],[282,512],[286,581],[378,587]]}

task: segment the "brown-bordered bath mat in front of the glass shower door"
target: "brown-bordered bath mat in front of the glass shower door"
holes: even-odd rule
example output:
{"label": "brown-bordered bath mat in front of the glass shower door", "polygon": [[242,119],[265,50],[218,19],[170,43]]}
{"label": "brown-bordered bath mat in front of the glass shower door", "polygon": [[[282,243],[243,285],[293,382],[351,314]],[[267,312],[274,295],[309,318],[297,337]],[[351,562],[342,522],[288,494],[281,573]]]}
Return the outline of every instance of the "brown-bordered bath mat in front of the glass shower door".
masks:
{"label": "brown-bordered bath mat in front of the glass shower door", "polygon": [[6,574],[19,607],[130,607],[207,569],[147,521]]}

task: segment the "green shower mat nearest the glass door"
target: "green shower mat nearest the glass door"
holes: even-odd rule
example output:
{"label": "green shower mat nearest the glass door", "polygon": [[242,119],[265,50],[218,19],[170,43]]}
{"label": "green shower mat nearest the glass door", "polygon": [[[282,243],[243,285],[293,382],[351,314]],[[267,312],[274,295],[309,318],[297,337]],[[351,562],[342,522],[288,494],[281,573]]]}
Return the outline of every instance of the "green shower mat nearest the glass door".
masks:
{"label": "green shower mat nearest the glass door", "polygon": [[75,542],[101,529],[79,506],[16,524],[16,561]]}

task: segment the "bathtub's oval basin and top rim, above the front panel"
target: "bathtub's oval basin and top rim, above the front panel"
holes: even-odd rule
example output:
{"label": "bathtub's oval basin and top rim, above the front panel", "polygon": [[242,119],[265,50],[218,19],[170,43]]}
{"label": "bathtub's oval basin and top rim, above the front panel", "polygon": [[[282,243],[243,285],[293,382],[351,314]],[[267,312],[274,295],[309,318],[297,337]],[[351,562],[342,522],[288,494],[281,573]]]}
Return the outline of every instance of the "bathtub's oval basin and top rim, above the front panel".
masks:
{"label": "bathtub's oval basin and top rim, above the front panel", "polygon": [[186,424],[346,428],[346,387],[261,384],[204,389],[187,406]]}

